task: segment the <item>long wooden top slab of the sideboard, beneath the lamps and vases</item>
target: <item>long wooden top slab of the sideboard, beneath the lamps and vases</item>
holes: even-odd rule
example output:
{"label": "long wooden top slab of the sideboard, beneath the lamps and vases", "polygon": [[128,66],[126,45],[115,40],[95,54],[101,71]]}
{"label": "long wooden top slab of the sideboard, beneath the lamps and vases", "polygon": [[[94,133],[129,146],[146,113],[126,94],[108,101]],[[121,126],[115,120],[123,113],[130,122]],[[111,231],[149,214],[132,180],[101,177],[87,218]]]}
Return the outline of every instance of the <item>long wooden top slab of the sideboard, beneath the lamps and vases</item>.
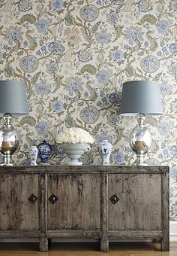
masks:
{"label": "long wooden top slab of the sideboard, beneath the lamps and vases", "polygon": [[48,165],[48,166],[0,166],[0,174],[3,172],[19,173],[166,173],[169,172],[169,166],[117,166],[117,165],[90,165],[90,166],[66,166],[66,165]]}

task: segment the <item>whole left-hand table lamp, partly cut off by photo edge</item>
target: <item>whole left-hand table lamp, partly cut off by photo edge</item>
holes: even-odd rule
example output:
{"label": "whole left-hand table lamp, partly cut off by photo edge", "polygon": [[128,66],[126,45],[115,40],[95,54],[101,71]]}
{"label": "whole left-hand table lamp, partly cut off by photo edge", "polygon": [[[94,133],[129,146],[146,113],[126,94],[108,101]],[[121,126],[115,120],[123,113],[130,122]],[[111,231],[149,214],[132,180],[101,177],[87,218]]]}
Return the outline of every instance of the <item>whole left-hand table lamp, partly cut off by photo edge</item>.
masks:
{"label": "whole left-hand table lamp, partly cut off by photo edge", "polygon": [[21,81],[0,81],[0,114],[5,121],[0,129],[0,152],[4,154],[4,163],[12,166],[11,154],[19,145],[16,130],[11,124],[12,115],[28,114],[26,84]]}

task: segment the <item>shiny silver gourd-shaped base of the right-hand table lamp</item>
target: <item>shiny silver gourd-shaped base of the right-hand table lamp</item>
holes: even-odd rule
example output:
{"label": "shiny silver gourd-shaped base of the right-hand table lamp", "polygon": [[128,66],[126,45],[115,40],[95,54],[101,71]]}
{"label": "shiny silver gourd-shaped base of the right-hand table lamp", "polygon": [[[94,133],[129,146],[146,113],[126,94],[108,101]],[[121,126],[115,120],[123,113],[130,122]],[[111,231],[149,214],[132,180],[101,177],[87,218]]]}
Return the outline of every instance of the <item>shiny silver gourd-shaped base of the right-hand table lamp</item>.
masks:
{"label": "shiny silver gourd-shaped base of the right-hand table lamp", "polygon": [[136,161],[133,163],[137,166],[145,166],[144,154],[146,154],[151,147],[151,133],[144,125],[145,114],[137,114],[138,124],[130,133],[130,148],[136,152]]}

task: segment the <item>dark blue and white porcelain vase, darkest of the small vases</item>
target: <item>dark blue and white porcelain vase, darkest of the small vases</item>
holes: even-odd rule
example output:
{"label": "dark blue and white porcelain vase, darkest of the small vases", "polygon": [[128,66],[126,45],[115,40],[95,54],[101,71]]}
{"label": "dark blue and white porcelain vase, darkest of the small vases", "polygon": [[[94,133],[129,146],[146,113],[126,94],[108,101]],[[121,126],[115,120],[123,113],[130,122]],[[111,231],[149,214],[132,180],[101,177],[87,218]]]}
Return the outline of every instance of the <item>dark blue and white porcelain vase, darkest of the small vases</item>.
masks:
{"label": "dark blue and white porcelain vase, darkest of the small vases", "polygon": [[38,146],[38,154],[40,156],[40,159],[42,160],[43,164],[49,164],[49,156],[52,153],[52,145],[46,142],[44,139],[42,143],[40,143]]}

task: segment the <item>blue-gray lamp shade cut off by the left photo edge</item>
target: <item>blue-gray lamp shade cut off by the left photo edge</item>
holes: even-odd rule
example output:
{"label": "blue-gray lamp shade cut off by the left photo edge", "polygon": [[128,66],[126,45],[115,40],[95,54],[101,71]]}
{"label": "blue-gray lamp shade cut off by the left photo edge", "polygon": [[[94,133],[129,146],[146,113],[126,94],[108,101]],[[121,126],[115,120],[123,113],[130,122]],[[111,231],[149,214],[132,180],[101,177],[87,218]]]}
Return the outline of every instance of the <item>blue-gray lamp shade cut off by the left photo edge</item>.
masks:
{"label": "blue-gray lamp shade cut off by the left photo edge", "polygon": [[26,115],[26,84],[21,81],[0,81],[0,114]]}

